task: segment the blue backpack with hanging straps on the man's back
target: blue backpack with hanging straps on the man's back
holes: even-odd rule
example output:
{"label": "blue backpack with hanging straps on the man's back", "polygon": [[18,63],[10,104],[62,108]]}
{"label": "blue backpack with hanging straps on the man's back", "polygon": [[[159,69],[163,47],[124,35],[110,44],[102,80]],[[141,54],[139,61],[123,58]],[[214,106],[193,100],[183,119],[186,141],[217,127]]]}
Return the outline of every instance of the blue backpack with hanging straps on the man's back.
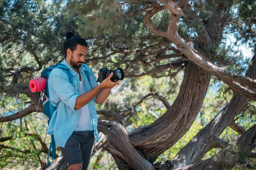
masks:
{"label": "blue backpack with hanging straps on the man's back", "polygon": [[[44,107],[44,114],[49,118],[48,120],[48,125],[49,122],[52,118],[52,114],[54,113],[54,111],[57,109],[56,107],[54,107],[52,105],[49,99],[49,87],[48,87],[48,79],[49,79],[49,74],[51,73],[53,68],[60,68],[62,71],[64,71],[65,74],[67,74],[67,77],[70,81],[70,83],[73,83],[73,74],[71,73],[71,71],[69,70],[69,68],[67,68],[66,65],[64,64],[56,64],[56,65],[52,65],[46,69],[44,69],[44,71],[42,71],[41,76],[40,77],[45,77],[46,78],[46,86],[44,91],[41,91],[41,97],[43,97],[43,107]],[[84,68],[84,73],[89,81],[89,72]],[[47,156],[47,165],[49,165],[51,162],[49,161],[49,155],[51,153],[52,150],[52,159],[55,159],[56,156],[56,144],[55,144],[55,140],[54,140],[54,136],[51,135],[51,144],[49,146],[49,152],[48,152],[48,156]]]}

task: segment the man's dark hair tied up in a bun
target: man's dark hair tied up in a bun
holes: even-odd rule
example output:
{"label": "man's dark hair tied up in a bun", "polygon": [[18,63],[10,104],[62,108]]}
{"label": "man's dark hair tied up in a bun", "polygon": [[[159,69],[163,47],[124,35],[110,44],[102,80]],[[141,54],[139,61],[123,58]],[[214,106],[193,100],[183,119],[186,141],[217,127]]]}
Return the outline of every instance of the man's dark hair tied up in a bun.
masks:
{"label": "man's dark hair tied up in a bun", "polygon": [[68,32],[66,34],[66,37],[67,37],[67,41],[64,42],[64,45],[63,45],[65,58],[67,57],[67,49],[68,48],[70,48],[71,51],[75,51],[76,46],[78,44],[88,47],[87,42],[83,38],[79,37],[78,35],[74,35],[72,32]]}

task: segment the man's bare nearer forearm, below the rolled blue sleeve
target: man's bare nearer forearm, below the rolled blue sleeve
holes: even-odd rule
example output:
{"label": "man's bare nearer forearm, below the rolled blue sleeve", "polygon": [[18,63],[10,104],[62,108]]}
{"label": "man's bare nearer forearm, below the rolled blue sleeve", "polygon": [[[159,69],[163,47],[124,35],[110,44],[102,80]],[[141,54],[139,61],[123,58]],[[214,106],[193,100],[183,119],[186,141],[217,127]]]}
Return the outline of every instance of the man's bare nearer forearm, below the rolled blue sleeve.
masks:
{"label": "man's bare nearer forearm, below the rolled blue sleeve", "polygon": [[105,90],[102,88],[101,85],[98,85],[96,88],[93,88],[92,90],[86,92],[85,94],[82,94],[76,98],[76,105],[75,109],[79,110],[80,108],[84,107],[87,105],[90,101],[93,100],[93,98],[99,94],[99,92]]}

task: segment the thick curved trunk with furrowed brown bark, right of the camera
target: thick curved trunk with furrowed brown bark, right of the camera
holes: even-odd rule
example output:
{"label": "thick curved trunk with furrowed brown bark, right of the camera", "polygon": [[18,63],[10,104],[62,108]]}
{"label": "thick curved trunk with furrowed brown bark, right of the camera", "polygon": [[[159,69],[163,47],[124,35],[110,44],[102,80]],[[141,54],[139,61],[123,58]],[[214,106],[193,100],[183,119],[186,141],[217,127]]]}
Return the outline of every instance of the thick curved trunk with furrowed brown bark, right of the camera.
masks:
{"label": "thick curved trunk with furrowed brown bark, right of the camera", "polygon": [[201,109],[211,74],[188,62],[180,92],[171,106],[143,132],[129,135],[132,144],[151,163],[189,130]]}

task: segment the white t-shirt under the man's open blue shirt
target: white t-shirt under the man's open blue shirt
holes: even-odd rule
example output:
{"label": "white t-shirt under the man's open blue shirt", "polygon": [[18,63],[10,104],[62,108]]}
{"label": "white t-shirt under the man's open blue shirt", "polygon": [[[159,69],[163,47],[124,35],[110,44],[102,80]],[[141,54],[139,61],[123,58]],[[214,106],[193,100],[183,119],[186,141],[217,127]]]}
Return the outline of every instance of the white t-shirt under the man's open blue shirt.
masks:
{"label": "white t-shirt under the man's open blue shirt", "polygon": [[[79,95],[84,94],[84,85],[82,81],[79,81]],[[80,116],[77,122],[75,131],[86,131],[93,130],[93,119],[88,108],[88,105],[85,105],[80,109]]]}

